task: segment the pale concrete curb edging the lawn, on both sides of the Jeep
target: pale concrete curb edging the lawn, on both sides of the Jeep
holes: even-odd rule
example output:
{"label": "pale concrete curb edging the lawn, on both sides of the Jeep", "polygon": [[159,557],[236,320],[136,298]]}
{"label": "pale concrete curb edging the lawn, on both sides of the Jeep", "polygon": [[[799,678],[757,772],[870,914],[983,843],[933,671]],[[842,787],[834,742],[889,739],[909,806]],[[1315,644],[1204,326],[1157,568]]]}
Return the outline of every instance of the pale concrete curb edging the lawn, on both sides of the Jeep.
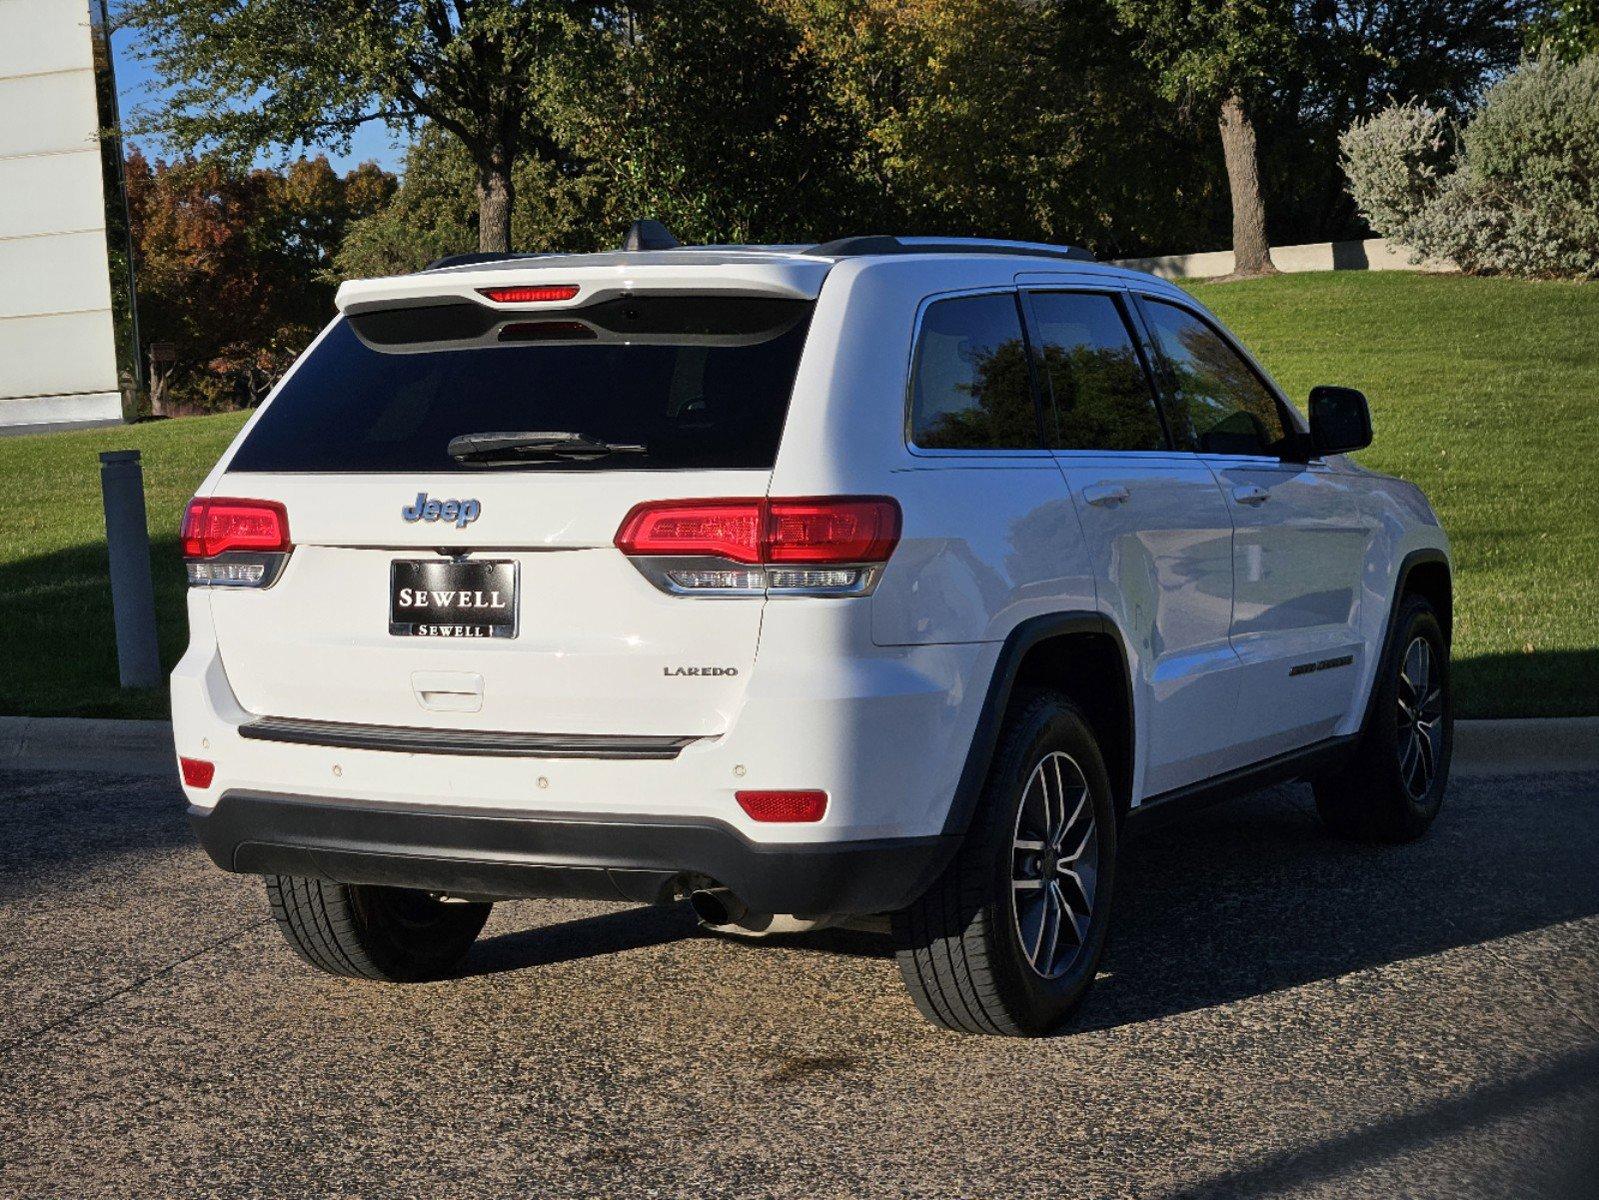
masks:
{"label": "pale concrete curb edging the lawn, on both sides of the Jeep", "polygon": [[[171,722],[0,717],[0,768],[168,774],[177,779]],[[1455,722],[1457,776],[1599,771],[1599,717]]]}

